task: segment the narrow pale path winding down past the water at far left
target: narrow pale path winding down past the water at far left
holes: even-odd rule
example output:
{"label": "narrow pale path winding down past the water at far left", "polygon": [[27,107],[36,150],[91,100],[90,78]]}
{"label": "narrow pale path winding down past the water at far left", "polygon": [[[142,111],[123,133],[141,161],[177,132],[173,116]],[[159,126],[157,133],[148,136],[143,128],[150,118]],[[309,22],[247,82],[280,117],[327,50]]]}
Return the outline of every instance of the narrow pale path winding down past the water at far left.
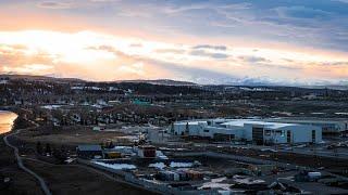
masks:
{"label": "narrow pale path winding down past the water at far left", "polygon": [[[33,123],[34,123],[34,122],[33,122]],[[36,123],[34,123],[34,125],[37,126]],[[30,129],[30,128],[18,129],[18,130],[16,130],[16,131],[13,132],[13,133],[3,136],[3,141],[4,141],[4,143],[5,143],[8,146],[10,146],[11,148],[14,150],[14,156],[15,156],[15,158],[16,158],[16,160],[17,160],[18,167],[20,167],[21,169],[23,169],[24,171],[26,171],[27,173],[29,173],[29,174],[32,174],[33,177],[35,177],[35,178],[39,181],[39,184],[40,184],[40,186],[41,186],[41,190],[42,190],[42,192],[44,192],[46,195],[51,195],[52,193],[51,193],[51,191],[48,188],[45,180],[44,180],[41,177],[39,177],[37,173],[35,173],[34,171],[32,171],[30,169],[26,168],[26,167],[23,165],[23,160],[22,160],[22,157],[20,156],[18,148],[17,148],[16,146],[14,146],[13,144],[11,144],[11,143],[9,142],[9,140],[8,140],[8,138],[10,138],[10,136],[12,136],[12,135],[15,135],[15,134],[18,134],[21,131],[23,131],[23,130],[28,130],[28,129]]]}

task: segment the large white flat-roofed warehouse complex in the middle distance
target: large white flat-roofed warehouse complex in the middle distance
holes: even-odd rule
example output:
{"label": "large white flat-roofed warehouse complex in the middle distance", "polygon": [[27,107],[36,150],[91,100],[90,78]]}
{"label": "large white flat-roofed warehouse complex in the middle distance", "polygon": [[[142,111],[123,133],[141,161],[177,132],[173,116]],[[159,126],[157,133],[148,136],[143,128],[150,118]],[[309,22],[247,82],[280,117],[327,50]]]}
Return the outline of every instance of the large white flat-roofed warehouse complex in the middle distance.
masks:
{"label": "large white flat-roofed warehouse complex in the middle distance", "polygon": [[177,121],[172,133],[215,140],[245,140],[257,144],[319,143],[322,128],[311,125],[268,122],[248,119]]}

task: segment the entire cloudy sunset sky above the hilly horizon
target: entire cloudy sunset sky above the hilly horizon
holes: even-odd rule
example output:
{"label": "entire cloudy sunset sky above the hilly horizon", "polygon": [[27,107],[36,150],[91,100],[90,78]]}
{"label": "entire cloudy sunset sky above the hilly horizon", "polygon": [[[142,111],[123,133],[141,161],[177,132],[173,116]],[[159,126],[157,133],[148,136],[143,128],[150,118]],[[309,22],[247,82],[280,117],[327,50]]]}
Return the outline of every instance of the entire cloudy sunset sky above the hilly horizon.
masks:
{"label": "entire cloudy sunset sky above the hilly horizon", "polygon": [[347,84],[348,0],[0,0],[0,73]]}

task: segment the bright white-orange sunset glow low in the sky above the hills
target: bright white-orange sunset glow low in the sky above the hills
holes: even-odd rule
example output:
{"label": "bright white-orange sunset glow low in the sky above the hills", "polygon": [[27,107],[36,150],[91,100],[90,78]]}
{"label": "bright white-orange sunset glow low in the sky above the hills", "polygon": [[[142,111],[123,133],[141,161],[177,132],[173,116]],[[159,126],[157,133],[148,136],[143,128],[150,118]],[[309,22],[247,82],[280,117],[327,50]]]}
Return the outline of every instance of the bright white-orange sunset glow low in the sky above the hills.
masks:
{"label": "bright white-orange sunset glow low in the sky above the hills", "polygon": [[[0,31],[0,42],[1,55],[15,55],[16,52],[23,55],[23,62],[17,58],[17,64],[1,64],[2,68],[0,70],[2,73],[60,75],[63,77],[83,77],[87,80],[175,78],[171,75],[171,70],[159,65],[160,63],[208,70],[213,66],[214,72],[224,74],[228,74],[232,69],[238,74],[249,72],[256,74],[254,76],[272,73],[266,68],[263,68],[263,72],[252,73],[254,67],[244,61],[244,57],[249,56],[269,61],[269,67],[302,69],[298,72],[299,76],[304,74],[308,78],[315,78],[315,76],[328,79],[344,78],[348,69],[345,64],[348,62],[348,57],[343,57],[339,53],[330,51],[304,53],[301,48],[299,48],[299,51],[288,51],[286,49],[248,48],[234,44],[234,47],[228,46],[226,51],[220,51],[220,53],[228,55],[228,58],[215,60],[209,55],[190,54],[194,47],[191,44],[147,41],[139,38],[124,38],[94,31]],[[141,47],[132,47],[132,44]],[[159,53],[158,51],[161,50],[182,50],[183,53]],[[206,52],[215,51],[206,49]],[[327,54],[323,55],[323,53]],[[333,56],[335,57],[333,58]],[[262,64],[264,63],[262,61],[256,63]],[[335,63],[338,65],[334,67],[327,65]],[[286,74],[283,75],[281,72],[277,74],[287,77]]]}

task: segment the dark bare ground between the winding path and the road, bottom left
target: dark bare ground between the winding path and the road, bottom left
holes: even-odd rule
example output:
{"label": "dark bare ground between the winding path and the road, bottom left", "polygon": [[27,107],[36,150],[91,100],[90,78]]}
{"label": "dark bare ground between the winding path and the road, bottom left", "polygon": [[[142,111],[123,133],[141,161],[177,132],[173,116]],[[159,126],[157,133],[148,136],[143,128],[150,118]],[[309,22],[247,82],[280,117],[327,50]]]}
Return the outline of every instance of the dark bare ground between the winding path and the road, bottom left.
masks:
{"label": "dark bare ground between the winding path and the road, bottom left", "polygon": [[85,168],[53,166],[30,160],[25,160],[25,165],[47,181],[52,194],[148,194],[148,192],[111,181]]}

